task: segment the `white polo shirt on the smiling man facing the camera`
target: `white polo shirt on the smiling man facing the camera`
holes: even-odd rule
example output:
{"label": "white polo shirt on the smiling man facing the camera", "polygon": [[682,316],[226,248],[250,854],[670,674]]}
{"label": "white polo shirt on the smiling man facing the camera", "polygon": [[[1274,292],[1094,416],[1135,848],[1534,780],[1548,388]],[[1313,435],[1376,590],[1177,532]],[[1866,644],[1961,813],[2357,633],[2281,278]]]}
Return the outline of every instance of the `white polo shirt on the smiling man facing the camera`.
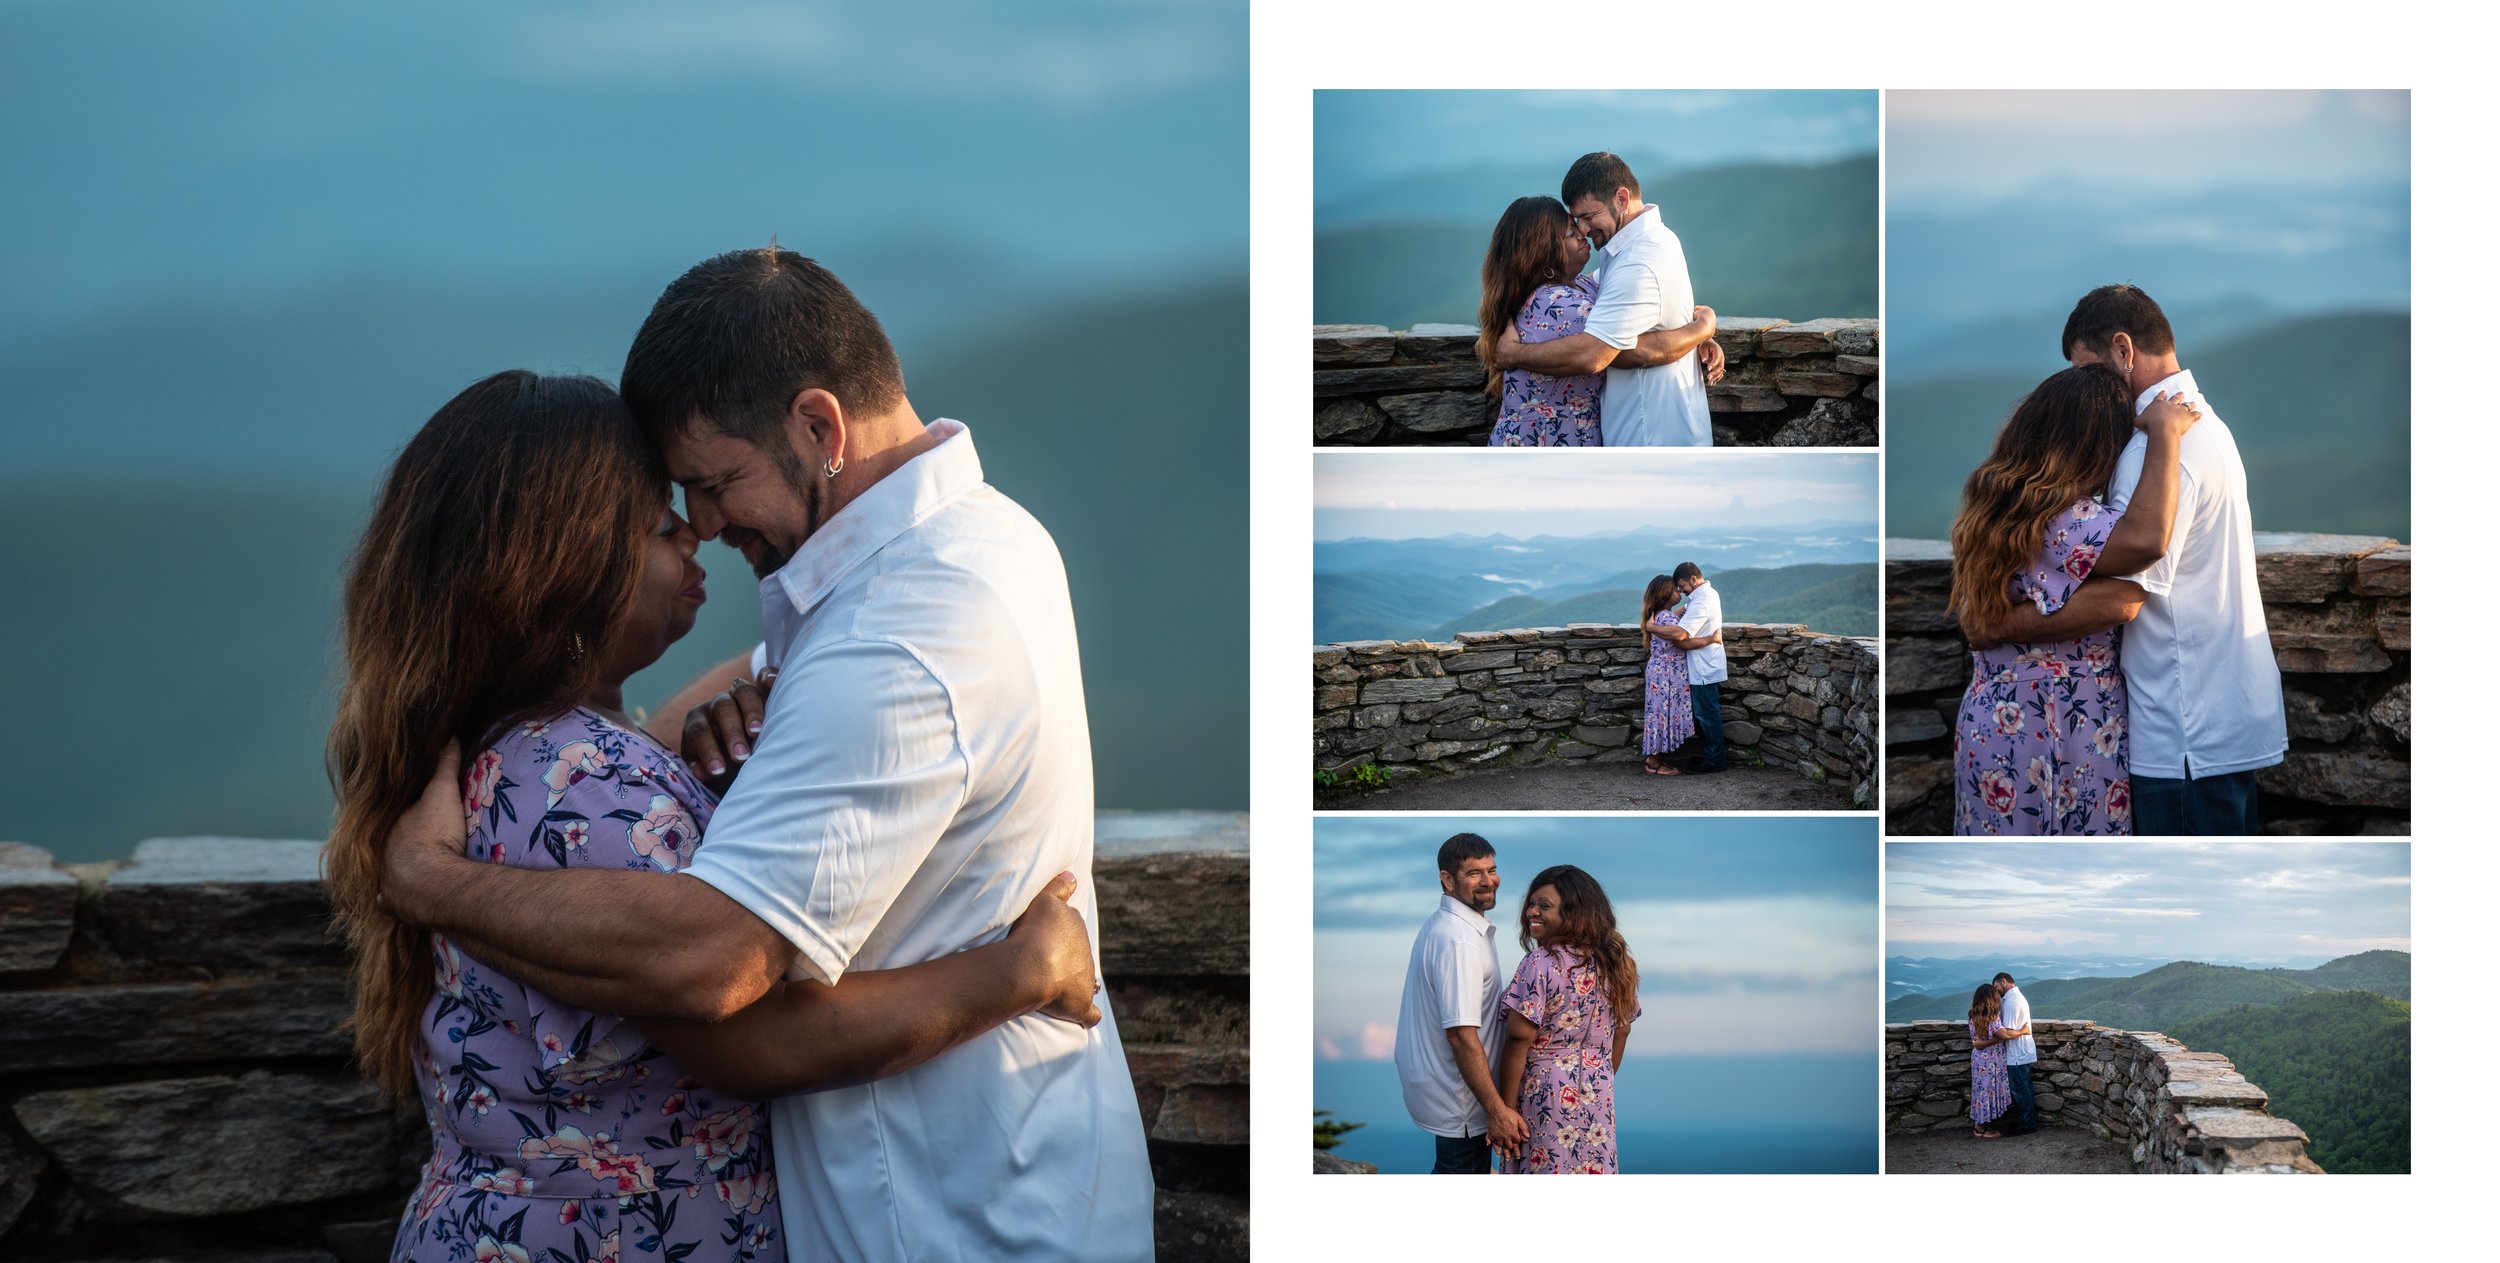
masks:
{"label": "white polo shirt on the smiling man facing the camera", "polygon": [[1432,1135],[1485,1135],[1485,1103],[1458,1075],[1442,1030],[1472,1025],[1485,1073],[1502,1063],[1502,963],[1485,913],[1440,895],[1440,910],[1415,933],[1408,985],[1398,998],[1398,1083],[1408,1113]]}

